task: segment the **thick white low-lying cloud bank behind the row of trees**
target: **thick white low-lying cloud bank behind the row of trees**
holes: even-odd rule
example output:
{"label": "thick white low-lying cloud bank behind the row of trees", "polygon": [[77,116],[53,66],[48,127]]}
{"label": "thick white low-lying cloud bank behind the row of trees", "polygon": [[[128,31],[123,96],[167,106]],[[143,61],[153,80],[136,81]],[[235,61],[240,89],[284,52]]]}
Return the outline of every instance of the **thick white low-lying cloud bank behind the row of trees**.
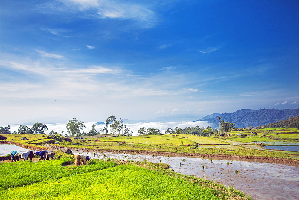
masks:
{"label": "thick white low-lying cloud bank behind the row of trees", "polygon": [[[95,123],[97,123],[97,122],[87,122],[87,123],[85,123],[86,128],[83,131],[88,133],[90,131],[91,126]],[[62,131],[63,131],[62,135],[67,134],[66,124],[57,123],[57,124],[46,124],[46,125],[47,125],[47,128],[48,128],[48,131],[46,131],[46,134],[49,134],[49,132],[51,130],[53,130],[57,133],[60,133],[60,134],[62,134]],[[166,123],[163,123],[163,122],[146,122],[146,123],[135,123],[135,124],[124,124],[124,125],[126,125],[128,128],[130,128],[134,132],[133,135],[136,135],[139,128],[142,128],[142,127],[157,128],[162,132],[162,134],[164,134],[165,131],[168,128],[172,128],[172,129],[174,129],[176,127],[186,128],[188,126],[190,126],[190,127],[199,126],[200,128],[201,127],[206,128],[208,126],[212,126],[212,124],[210,124],[206,121],[199,121],[199,122],[166,122]],[[3,126],[3,125],[1,125],[1,126]],[[10,127],[11,127],[10,132],[11,133],[13,133],[13,131],[18,132],[19,126],[20,125],[10,125]],[[100,132],[100,129],[103,128],[104,126],[105,126],[104,124],[96,125],[96,130]],[[29,125],[28,127],[32,128],[32,125]],[[110,133],[109,129],[108,129],[108,133]],[[120,131],[120,134],[121,133],[122,133],[122,131]]]}

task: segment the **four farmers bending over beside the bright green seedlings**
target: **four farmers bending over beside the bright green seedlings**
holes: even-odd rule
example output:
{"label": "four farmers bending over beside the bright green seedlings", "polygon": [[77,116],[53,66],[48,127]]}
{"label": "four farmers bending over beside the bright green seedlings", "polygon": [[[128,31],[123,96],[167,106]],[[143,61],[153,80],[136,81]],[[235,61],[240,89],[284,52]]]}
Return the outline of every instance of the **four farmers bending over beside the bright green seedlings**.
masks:
{"label": "four farmers bending over beside the bright green seedlings", "polygon": [[[42,160],[49,160],[50,158],[53,159],[53,157],[55,156],[55,153],[53,151],[49,151],[49,150],[42,150],[42,151],[36,151],[35,155],[40,156],[40,158]],[[19,161],[21,158],[24,158],[24,160],[28,160],[28,158],[30,159],[30,161],[32,162],[33,159],[33,151],[26,151],[21,153],[21,155],[18,153],[18,151],[13,151],[10,154],[11,157],[11,162],[16,162]],[[89,156],[84,156],[84,155],[76,155],[75,156],[75,166],[79,166],[81,165],[81,163],[83,165],[86,165],[86,161],[89,160]]]}

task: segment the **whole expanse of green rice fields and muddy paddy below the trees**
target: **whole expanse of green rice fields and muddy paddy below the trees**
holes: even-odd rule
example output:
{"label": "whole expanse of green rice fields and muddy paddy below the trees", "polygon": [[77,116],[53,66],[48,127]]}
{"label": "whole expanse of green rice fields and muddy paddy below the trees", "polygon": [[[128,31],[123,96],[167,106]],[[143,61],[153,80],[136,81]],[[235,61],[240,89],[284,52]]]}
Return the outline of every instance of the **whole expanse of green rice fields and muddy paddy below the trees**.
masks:
{"label": "whole expanse of green rice fields and muddy paddy below the trees", "polygon": [[[52,150],[55,157],[39,161],[34,156],[32,162],[10,163],[10,157],[3,155],[1,198],[76,199],[84,190],[88,195],[80,197],[83,199],[296,199],[299,152],[265,149],[255,142],[299,146],[299,129],[236,130],[219,137],[175,132],[69,138],[5,134],[2,145]],[[21,140],[23,137],[27,140]],[[54,142],[57,144],[51,144]],[[74,166],[74,155],[90,160],[87,165]],[[44,190],[44,185],[49,189]]]}

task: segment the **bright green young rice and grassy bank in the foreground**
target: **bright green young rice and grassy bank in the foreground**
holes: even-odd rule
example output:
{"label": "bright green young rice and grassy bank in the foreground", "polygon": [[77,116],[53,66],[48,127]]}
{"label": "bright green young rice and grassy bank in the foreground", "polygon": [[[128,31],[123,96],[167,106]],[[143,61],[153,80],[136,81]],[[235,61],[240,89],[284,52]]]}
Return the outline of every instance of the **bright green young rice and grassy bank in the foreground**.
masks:
{"label": "bright green young rice and grassy bank in the foreground", "polygon": [[63,166],[73,161],[0,164],[0,199],[248,198],[212,181],[162,169],[161,163],[92,159],[86,166]]}

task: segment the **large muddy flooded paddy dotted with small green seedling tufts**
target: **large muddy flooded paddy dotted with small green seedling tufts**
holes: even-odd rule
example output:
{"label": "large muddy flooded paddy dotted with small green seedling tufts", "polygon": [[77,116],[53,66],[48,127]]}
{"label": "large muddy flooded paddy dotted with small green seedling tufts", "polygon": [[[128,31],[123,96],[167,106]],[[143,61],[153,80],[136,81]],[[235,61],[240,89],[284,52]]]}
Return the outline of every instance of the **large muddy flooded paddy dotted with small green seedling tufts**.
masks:
{"label": "large muddy flooded paddy dotted with small green seedling tufts", "polygon": [[[167,163],[181,174],[195,175],[234,187],[251,195],[253,199],[299,199],[299,168],[272,163],[246,162],[237,160],[210,160],[194,157],[165,157],[150,155],[114,154],[73,151],[74,154],[88,155],[90,158],[115,158],[123,160]],[[106,157],[103,156],[106,155]],[[124,157],[126,156],[126,158]],[[185,161],[182,161],[185,159]],[[181,165],[180,165],[181,162]],[[227,164],[227,162],[231,164]],[[202,169],[204,166],[204,169]],[[238,170],[240,173],[236,173]]]}

